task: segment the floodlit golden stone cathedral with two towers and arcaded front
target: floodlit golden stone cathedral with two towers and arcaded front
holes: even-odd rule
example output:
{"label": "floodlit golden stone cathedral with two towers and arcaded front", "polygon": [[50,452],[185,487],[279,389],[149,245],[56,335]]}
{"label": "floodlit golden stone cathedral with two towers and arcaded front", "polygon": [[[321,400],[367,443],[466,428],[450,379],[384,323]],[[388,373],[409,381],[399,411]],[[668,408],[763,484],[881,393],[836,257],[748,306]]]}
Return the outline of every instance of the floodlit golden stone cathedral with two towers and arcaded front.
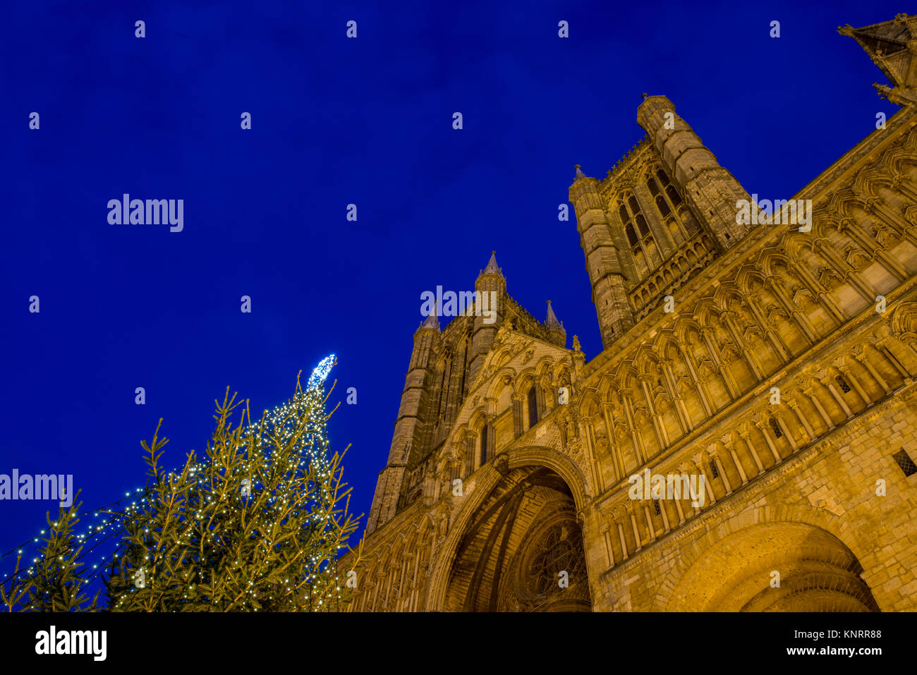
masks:
{"label": "floodlit golden stone cathedral with two towers and arcaded front", "polygon": [[662,95],[576,167],[594,358],[495,254],[426,317],[348,611],[917,610],[917,17],[839,32],[900,110],[787,206]]}

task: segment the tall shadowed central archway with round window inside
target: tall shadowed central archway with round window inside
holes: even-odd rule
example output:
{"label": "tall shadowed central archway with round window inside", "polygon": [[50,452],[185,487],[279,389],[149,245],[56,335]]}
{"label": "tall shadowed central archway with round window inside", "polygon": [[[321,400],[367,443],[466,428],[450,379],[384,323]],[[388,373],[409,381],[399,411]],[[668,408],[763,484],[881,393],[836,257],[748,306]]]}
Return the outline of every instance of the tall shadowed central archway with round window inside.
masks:
{"label": "tall shadowed central archway with round window inside", "polygon": [[458,543],[443,609],[589,612],[582,529],[557,473],[509,470]]}

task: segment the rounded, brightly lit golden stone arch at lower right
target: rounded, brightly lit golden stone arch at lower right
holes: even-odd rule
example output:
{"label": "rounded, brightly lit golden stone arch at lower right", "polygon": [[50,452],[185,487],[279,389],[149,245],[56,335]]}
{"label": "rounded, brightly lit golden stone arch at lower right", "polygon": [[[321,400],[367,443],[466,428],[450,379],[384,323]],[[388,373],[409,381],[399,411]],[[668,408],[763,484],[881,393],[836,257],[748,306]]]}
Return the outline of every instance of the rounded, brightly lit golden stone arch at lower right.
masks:
{"label": "rounded, brightly lit golden stone arch at lower right", "polygon": [[672,612],[878,612],[853,552],[831,533],[779,521],[707,548],[670,595]]}

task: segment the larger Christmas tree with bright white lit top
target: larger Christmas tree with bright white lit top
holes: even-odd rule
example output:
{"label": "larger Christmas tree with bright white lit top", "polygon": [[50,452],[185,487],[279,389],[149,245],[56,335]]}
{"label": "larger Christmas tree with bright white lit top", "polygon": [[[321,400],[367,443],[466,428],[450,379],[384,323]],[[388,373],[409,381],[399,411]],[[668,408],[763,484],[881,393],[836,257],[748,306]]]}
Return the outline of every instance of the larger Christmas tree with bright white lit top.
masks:
{"label": "larger Christmas tree with bright white lit top", "polygon": [[[348,514],[341,455],[328,456],[322,361],[305,389],[252,424],[228,390],[205,457],[160,467],[159,428],[147,450],[146,499],[125,523],[106,580],[113,611],[326,611],[342,601],[335,561],[357,520]],[[333,413],[334,411],[332,411]]]}

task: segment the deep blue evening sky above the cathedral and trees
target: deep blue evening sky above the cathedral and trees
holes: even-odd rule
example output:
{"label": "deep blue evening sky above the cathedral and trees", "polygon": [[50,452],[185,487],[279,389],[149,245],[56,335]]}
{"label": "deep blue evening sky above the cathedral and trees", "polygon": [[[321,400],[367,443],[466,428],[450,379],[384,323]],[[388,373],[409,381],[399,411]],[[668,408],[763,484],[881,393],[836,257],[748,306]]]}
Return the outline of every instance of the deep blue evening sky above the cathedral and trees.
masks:
{"label": "deep blue evening sky above the cathedral and trees", "polygon": [[[334,352],[332,401],[353,386],[358,404],[341,405],[332,442],[353,445],[351,504],[369,513],[420,293],[470,290],[496,249],[518,301],[543,318],[552,300],[568,338],[590,359],[600,348],[558,205],[575,163],[602,178],[643,136],[642,93],[668,95],[768,198],[894,112],[871,87],[884,76],[836,27],[908,7],[801,5],[6,6],[0,473],[72,473],[85,505],[109,503],[143,484],[139,440],[160,417],[164,461],[180,465],[204,449],[227,385],[271,407]],[[183,231],[109,225],[106,203],[124,193],[183,199]],[[49,508],[0,502],[0,552]]]}

